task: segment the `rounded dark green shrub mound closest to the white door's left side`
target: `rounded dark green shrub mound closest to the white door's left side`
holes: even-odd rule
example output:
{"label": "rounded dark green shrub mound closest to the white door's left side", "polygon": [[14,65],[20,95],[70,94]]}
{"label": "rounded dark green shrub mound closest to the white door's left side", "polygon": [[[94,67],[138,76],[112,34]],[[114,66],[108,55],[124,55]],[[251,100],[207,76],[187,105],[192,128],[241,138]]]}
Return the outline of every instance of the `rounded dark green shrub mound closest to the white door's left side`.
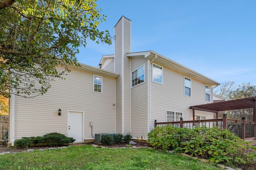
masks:
{"label": "rounded dark green shrub mound closest to the white door's left side", "polygon": [[56,147],[60,145],[67,145],[69,143],[73,143],[76,139],[72,137],[66,137],[63,134],[60,133],[48,133],[43,136],[44,143],[49,145],[50,147]]}

